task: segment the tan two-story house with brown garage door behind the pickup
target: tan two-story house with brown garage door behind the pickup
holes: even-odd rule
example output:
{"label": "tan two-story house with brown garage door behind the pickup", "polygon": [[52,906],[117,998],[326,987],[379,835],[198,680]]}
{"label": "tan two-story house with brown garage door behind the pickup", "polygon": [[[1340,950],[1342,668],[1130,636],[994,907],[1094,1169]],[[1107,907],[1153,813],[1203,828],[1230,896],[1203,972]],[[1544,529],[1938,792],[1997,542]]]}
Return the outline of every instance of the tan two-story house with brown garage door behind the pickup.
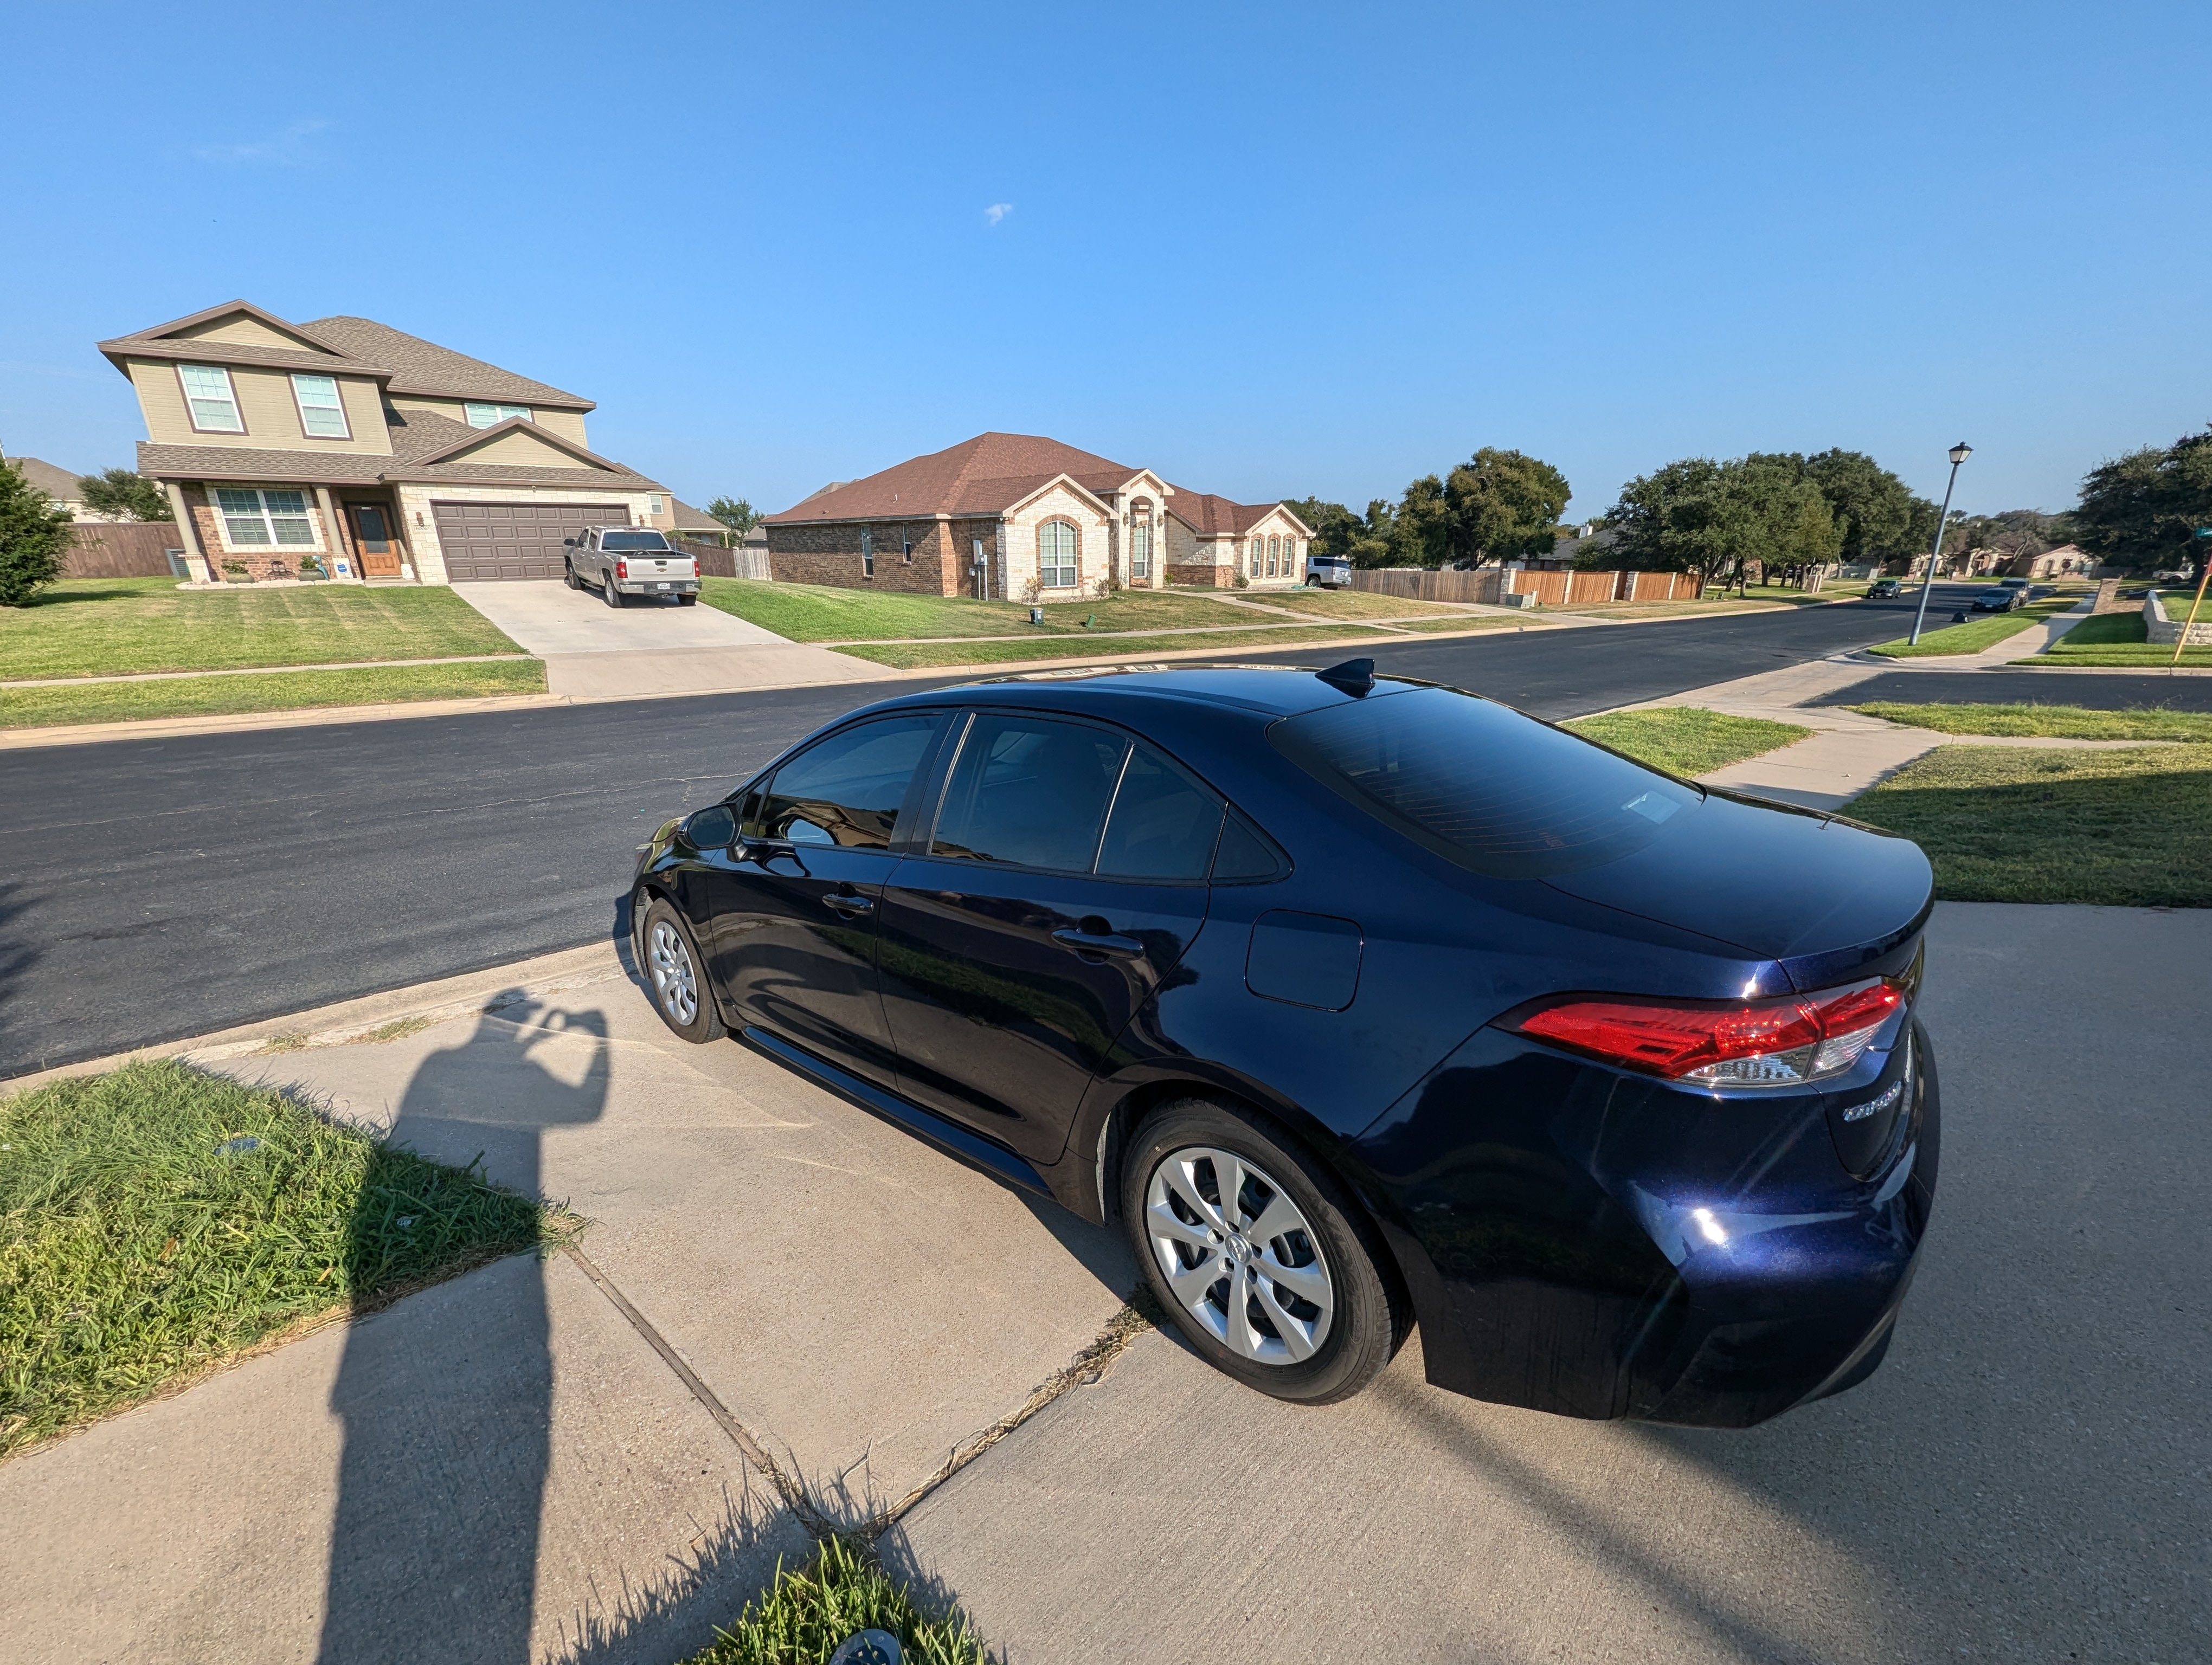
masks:
{"label": "tan two-story house with brown garage door behind the pickup", "polygon": [[664,486],[588,447],[588,398],[369,318],[228,301],[100,352],[201,579],[310,555],[367,582],[546,579],[582,526],[677,531]]}

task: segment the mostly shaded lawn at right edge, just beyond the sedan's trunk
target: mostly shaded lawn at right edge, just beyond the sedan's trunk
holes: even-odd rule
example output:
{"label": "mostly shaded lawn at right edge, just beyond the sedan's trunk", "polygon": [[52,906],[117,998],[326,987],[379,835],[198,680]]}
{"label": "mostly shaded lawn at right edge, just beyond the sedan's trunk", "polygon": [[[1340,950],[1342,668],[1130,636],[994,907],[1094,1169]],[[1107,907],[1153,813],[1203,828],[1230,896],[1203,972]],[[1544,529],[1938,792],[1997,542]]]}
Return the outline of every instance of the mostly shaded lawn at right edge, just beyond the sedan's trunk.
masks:
{"label": "mostly shaded lawn at right edge, just beyond the sedan's trunk", "polygon": [[2212,907],[2212,747],[1940,745],[1847,814],[1916,840],[1947,902]]}

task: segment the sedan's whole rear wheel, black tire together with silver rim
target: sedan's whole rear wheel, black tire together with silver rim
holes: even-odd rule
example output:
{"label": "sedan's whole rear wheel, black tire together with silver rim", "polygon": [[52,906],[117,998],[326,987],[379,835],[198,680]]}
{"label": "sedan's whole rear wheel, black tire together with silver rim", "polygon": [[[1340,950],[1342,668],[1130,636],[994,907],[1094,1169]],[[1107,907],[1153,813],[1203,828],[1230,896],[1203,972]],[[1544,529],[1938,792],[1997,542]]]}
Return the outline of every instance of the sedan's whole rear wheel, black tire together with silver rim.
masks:
{"label": "sedan's whole rear wheel, black tire together with silver rim", "polygon": [[[1223,1161],[1241,1179],[1234,1232],[1221,1229]],[[1245,1236],[1270,1216],[1279,1229]],[[1265,1117],[1210,1099],[1161,1106],[1130,1134],[1121,1221],[1183,1340],[1250,1389],[1294,1404],[1349,1400],[1405,1340],[1409,1309],[1374,1223]]]}

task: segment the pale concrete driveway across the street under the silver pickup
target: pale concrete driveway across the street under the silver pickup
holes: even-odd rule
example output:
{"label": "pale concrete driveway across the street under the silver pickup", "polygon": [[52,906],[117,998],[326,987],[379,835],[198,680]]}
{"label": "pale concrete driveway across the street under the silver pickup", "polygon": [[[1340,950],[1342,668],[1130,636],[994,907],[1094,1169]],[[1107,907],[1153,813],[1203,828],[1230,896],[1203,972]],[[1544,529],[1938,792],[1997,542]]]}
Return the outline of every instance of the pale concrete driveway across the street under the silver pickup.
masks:
{"label": "pale concrete driveway across the street under the silver pickup", "polygon": [[675,599],[611,608],[597,590],[551,579],[456,584],[453,595],[546,661],[555,694],[717,694],[748,688],[869,681],[880,666]]}

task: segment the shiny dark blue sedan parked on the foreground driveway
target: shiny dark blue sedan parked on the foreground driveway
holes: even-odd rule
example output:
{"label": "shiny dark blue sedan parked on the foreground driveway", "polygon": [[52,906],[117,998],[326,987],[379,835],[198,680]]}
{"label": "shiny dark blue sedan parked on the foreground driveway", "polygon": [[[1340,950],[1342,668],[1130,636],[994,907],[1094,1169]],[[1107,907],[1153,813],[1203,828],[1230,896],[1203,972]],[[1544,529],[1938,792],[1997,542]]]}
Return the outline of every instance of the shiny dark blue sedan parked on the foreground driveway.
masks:
{"label": "shiny dark blue sedan parked on the foreground driveway", "polygon": [[1453,688],[858,710],[644,849],[677,1035],[1088,1221],[1285,1400],[1747,1426],[1865,1380],[1936,1190],[1931,873]]}

